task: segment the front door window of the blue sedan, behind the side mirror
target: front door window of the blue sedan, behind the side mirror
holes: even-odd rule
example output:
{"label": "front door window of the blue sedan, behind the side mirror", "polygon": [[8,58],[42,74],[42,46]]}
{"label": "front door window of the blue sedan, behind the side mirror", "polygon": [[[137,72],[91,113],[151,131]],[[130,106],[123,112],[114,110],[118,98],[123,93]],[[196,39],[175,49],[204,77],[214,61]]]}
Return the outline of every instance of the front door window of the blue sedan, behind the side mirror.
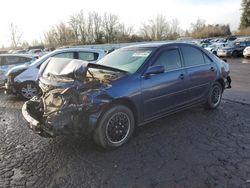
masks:
{"label": "front door window of the blue sedan, behind the side mirror", "polygon": [[178,49],[171,49],[162,52],[156,60],[155,65],[163,65],[165,71],[181,67],[181,59]]}

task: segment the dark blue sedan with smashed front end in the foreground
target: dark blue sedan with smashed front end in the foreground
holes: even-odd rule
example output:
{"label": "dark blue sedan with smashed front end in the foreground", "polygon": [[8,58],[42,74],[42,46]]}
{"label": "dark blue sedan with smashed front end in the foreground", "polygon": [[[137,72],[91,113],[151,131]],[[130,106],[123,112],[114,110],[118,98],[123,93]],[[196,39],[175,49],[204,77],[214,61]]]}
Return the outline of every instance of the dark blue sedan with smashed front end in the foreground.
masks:
{"label": "dark blue sedan with smashed front end in the foreground", "polygon": [[163,116],[200,104],[215,109],[231,87],[226,62],[185,43],[129,46],[96,64],[51,58],[38,82],[41,93],[22,108],[29,128],[43,137],[91,135],[105,149]]}

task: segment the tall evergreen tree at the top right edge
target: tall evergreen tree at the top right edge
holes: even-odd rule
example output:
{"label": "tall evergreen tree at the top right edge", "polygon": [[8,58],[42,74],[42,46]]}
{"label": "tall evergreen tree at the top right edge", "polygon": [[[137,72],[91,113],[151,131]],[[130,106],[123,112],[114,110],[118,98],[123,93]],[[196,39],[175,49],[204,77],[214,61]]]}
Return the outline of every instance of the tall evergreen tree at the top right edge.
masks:
{"label": "tall evergreen tree at the top right edge", "polygon": [[242,0],[241,6],[242,14],[239,29],[244,29],[250,26],[250,0]]}

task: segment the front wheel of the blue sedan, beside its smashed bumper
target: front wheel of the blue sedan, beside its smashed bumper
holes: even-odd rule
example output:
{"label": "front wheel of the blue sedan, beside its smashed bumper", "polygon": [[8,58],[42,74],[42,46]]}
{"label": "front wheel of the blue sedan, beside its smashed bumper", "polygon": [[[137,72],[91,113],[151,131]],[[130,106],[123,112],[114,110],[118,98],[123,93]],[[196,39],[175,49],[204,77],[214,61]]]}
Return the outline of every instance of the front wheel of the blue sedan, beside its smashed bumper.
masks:
{"label": "front wheel of the blue sedan, beside its smashed bumper", "polygon": [[118,148],[130,139],[134,126],[134,115],[128,107],[112,106],[100,118],[94,131],[94,141],[104,149]]}

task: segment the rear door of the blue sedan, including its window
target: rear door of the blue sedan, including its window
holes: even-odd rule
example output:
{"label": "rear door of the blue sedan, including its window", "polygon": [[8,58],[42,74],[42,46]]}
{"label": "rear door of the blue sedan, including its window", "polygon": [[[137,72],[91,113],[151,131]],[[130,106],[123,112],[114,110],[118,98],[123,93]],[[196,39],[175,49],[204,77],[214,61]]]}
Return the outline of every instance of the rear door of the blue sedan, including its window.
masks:
{"label": "rear door of the blue sedan, including its window", "polygon": [[217,66],[203,51],[194,46],[181,47],[184,64],[189,75],[190,102],[202,100],[216,78]]}

